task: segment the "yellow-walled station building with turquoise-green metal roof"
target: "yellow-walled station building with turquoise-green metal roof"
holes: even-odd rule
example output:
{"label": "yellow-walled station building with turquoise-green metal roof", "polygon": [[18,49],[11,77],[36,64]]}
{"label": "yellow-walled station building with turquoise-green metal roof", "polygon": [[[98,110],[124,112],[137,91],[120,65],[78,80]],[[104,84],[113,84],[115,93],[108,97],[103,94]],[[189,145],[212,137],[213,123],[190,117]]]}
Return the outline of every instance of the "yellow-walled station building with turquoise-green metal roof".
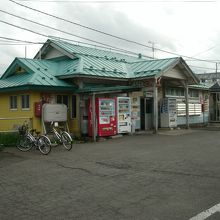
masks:
{"label": "yellow-walled station building with turquoise-green metal roof", "polygon": [[117,97],[130,98],[133,131],[209,121],[209,88],[183,58],[149,59],[48,39],[33,59],[15,58],[0,78],[0,131],[28,120],[44,132],[42,105],[60,103],[71,133],[88,135],[92,126],[95,137],[96,100]]}

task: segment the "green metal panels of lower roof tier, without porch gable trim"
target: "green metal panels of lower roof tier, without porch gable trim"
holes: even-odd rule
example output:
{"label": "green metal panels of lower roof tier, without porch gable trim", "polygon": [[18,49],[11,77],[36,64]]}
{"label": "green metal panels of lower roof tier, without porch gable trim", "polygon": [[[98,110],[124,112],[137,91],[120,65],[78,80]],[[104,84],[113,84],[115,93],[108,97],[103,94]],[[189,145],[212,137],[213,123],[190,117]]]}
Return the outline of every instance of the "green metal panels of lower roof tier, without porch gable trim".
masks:
{"label": "green metal panels of lower roof tier, without porch gable trim", "polygon": [[[169,58],[126,63],[115,59],[80,55],[80,58],[72,61],[72,65],[71,61],[68,61],[68,68],[64,67],[65,70],[60,71],[57,76],[72,78],[74,75],[87,75],[124,79],[154,77],[178,60],[179,58]],[[60,65],[62,66],[62,62]]]}

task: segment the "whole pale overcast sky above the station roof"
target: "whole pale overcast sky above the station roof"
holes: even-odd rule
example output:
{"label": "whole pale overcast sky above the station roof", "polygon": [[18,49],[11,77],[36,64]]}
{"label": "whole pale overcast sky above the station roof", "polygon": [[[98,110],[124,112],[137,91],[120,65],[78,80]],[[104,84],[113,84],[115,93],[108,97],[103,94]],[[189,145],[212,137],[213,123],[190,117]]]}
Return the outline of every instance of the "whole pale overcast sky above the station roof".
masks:
{"label": "whole pale overcast sky above the station roof", "polygon": [[[179,56],[215,60],[214,62],[190,61],[190,58],[184,57],[196,73],[214,72],[216,62],[220,63],[219,1],[67,1],[17,2],[146,46],[154,45],[155,58],[177,56],[158,50],[161,49]],[[47,40],[46,36],[56,36],[89,43],[84,39],[62,33],[64,31],[135,53],[153,56],[151,48],[99,34],[19,6],[9,0],[1,0],[0,9],[60,30],[51,30],[0,12],[0,37],[43,43]],[[14,42],[0,38],[0,75],[15,57],[26,55],[27,58],[33,58],[40,47],[40,44],[14,45]],[[218,68],[220,69],[220,64]]]}

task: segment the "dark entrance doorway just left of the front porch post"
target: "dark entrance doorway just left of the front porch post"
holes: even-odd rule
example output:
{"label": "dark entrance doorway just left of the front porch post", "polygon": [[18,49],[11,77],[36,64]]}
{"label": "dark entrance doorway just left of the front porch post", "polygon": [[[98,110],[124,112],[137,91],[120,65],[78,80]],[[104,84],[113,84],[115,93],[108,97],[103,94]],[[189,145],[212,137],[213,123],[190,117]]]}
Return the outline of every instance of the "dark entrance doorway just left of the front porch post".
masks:
{"label": "dark entrance doorway just left of the front porch post", "polygon": [[153,128],[153,98],[141,98],[141,130]]}

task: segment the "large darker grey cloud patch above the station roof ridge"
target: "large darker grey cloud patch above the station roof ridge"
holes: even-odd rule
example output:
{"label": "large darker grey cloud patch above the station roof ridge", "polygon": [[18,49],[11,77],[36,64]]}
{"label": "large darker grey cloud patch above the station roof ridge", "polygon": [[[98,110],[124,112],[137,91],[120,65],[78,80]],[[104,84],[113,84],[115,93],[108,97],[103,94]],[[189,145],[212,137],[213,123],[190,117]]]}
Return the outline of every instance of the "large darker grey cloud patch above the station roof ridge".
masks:
{"label": "large darker grey cloud patch above the station roof ridge", "polygon": [[[148,44],[148,41],[154,41],[155,43],[159,42],[159,44],[155,44],[155,46],[163,48],[164,45],[166,45],[167,49],[175,51],[175,45],[166,34],[159,33],[156,28],[150,29],[138,25],[132,20],[132,15],[131,17],[127,17],[122,12],[114,11],[112,8],[104,6],[92,7],[78,5],[77,7],[68,7],[63,10],[63,15],[71,21],[93,27],[103,32],[111,33],[122,38],[130,39],[147,46],[151,46]],[[61,14],[61,12],[59,12],[59,14]],[[58,26],[61,29],[65,28],[63,25]],[[96,41],[105,42],[124,49],[134,50],[137,53],[142,52],[147,55],[151,54],[151,49],[144,48],[136,44],[100,35],[73,25],[69,25],[69,28],[74,31],[74,33],[95,39]]]}

